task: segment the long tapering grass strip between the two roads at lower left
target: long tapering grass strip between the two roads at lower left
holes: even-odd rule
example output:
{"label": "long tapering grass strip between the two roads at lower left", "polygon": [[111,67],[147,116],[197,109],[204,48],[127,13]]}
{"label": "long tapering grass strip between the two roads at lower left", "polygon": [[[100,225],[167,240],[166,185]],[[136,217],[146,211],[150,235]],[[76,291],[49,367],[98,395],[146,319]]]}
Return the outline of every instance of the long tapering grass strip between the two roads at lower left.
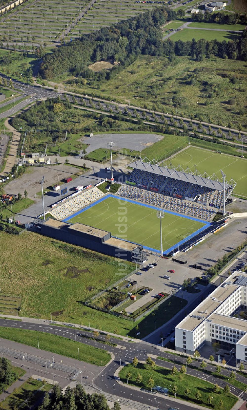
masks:
{"label": "long tapering grass strip between the two roads at lower left", "polygon": [[40,349],[73,359],[78,359],[79,348],[79,360],[96,364],[97,366],[101,366],[101,361],[102,364],[105,365],[110,360],[110,354],[102,349],[75,342],[74,340],[67,339],[66,337],[50,335],[49,333],[2,327],[1,336],[4,339],[13,340],[14,342],[27,344],[28,346],[33,347],[38,347],[38,336]]}

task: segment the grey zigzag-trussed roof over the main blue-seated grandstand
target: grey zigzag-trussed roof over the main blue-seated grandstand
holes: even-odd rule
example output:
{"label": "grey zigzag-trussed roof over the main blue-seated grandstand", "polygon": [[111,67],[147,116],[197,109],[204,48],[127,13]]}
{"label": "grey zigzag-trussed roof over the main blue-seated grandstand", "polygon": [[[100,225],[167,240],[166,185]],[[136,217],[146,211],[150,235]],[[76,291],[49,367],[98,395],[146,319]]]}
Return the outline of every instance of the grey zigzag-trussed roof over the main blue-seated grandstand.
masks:
{"label": "grey zigzag-trussed roof over the main blue-seated grandstand", "polygon": [[[190,184],[200,185],[201,187],[218,189],[218,191],[223,189],[223,182],[203,178],[199,175],[193,175],[193,173],[177,171],[177,169],[170,169],[168,166],[159,166],[157,164],[150,164],[141,160],[133,161],[129,164],[129,166],[131,166],[131,168],[139,169],[140,171],[163,175],[165,178],[173,178],[182,182],[190,182]],[[225,187],[231,187],[231,185],[225,184]]]}

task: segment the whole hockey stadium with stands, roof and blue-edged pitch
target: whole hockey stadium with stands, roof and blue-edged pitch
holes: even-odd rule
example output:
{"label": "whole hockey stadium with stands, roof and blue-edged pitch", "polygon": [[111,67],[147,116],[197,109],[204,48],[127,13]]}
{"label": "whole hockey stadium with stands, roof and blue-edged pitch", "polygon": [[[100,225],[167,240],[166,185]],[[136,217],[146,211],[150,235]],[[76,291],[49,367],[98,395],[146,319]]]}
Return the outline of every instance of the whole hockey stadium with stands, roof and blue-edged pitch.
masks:
{"label": "whole hockey stadium with stands, roof and blue-edged pitch", "polygon": [[[196,169],[184,170],[172,163],[161,166],[140,157],[134,158],[129,167],[132,170],[116,194],[104,194],[100,190],[102,182],[81,187],[80,191],[52,205],[50,214],[60,221],[59,225],[48,220],[41,224],[42,229],[44,225],[59,228],[60,236],[56,237],[62,240],[68,240],[72,230],[73,235],[77,231],[77,236],[78,232],[82,235],[82,242],[70,238],[72,243],[92,248],[93,240],[98,243],[93,246],[94,250],[111,255],[116,255],[117,249],[126,248],[127,259],[142,261],[147,251],[159,253],[157,210],[163,210],[164,215],[163,256],[186,250],[220,228],[213,217],[224,210],[224,203],[232,201],[236,186],[233,180],[228,183],[223,173],[222,180],[218,180],[215,175],[210,178],[206,172],[201,175]],[[48,231],[46,235],[50,235]]]}

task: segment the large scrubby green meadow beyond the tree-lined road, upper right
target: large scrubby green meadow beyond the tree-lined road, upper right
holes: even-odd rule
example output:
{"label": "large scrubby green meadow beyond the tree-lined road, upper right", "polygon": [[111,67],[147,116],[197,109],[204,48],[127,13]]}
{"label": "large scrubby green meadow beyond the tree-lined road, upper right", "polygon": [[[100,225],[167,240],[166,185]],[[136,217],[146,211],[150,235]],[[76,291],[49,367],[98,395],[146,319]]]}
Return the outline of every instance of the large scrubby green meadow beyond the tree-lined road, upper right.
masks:
{"label": "large scrubby green meadow beyond the tree-lined road, upper right", "polygon": [[[171,40],[173,38],[172,35]],[[65,84],[70,91],[75,89],[67,81]],[[147,110],[155,107],[165,114],[182,111],[187,118],[202,116],[204,121],[215,124],[220,121],[227,125],[232,121],[236,128],[238,125],[243,129],[247,127],[246,67],[238,60],[229,59],[226,65],[217,57],[197,62],[176,56],[169,62],[166,57],[140,55],[110,80],[100,83],[87,80],[84,86],[77,84],[76,90],[86,95],[93,93],[101,98],[130,102],[130,105]],[[230,98],[233,105],[229,105]]]}

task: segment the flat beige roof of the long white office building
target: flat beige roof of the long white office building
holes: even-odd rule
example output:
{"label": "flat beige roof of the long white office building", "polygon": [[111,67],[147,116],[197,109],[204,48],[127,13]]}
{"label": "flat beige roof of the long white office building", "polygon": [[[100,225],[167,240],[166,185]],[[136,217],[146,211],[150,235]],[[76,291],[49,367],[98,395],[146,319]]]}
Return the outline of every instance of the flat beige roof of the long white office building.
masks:
{"label": "flat beige roof of the long white office building", "polygon": [[[200,303],[184,320],[182,320],[176,327],[185,330],[194,330],[206,319],[211,319],[212,314],[214,315],[215,309],[219,307],[236,289],[239,288],[238,284],[234,284],[239,276],[243,275],[247,277],[246,273],[235,271],[227,280],[223,282],[222,285],[218,286],[202,303]],[[225,284],[227,285],[225,286]],[[238,320],[234,317],[224,316],[221,314],[215,314],[216,317],[226,317],[230,320]],[[247,322],[246,322],[247,324]],[[224,326],[224,325],[223,325]],[[227,326],[227,325],[225,325]],[[230,325],[228,325],[230,326]],[[239,326],[236,325],[236,326]],[[245,330],[244,330],[245,331]],[[247,330],[246,330],[247,332]]]}

